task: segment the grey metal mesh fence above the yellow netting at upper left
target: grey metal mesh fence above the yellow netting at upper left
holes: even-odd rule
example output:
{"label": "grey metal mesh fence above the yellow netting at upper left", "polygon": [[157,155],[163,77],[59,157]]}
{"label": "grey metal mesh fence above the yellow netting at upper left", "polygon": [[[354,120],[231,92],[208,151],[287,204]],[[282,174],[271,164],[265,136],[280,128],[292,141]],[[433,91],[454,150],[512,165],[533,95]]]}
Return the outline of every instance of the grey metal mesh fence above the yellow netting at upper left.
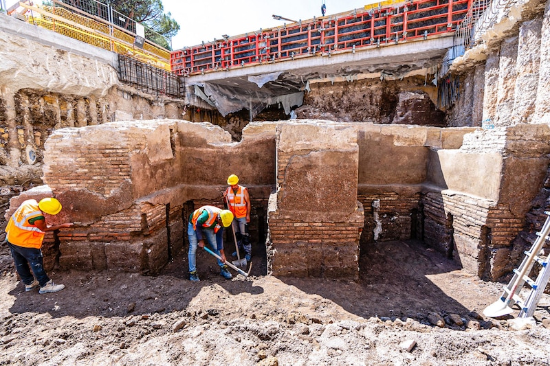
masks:
{"label": "grey metal mesh fence above the yellow netting at upper left", "polygon": [[[72,8],[82,10],[87,14],[97,16],[104,21],[112,23],[117,27],[120,27],[131,34],[136,34],[137,26],[136,21],[130,19],[128,16],[121,14],[120,12],[113,9],[111,5],[100,3],[96,0],[63,0],[57,1],[54,0],[54,3],[59,6],[69,5]],[[164,48],[170,47],[170,40],[164,37],[162,34],[159,34],[152,30],[149,27],[145,27],[145,39],[151,41],[156,45],[159,45]]]}

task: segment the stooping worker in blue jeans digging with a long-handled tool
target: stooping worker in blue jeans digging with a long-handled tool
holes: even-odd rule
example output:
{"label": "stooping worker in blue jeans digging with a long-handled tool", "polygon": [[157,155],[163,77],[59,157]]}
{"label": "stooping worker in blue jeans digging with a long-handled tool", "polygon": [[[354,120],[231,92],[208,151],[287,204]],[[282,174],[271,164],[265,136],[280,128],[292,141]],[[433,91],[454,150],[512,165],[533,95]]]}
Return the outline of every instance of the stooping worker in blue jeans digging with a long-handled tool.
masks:
{"label": "stooping worker in blue jeans digging with a long-handled tool", "polygon": [[218,260],[220,267],[220,275],[225,279],[230,279],[233,276],[228,271],[228,266],[225,264],[225,253],[223,252],[223,228],[229,227],[233,221],[233,214],[228,209],[221,209],[214,206],[202,206],[195,209],[189,216],[187,225],[187,236],[189,238],[189,279],[191,281],[199,281],[197,274],[197,244],[199,247],[204,247],[203,236],[212,251],[219,255],[223,261]]}

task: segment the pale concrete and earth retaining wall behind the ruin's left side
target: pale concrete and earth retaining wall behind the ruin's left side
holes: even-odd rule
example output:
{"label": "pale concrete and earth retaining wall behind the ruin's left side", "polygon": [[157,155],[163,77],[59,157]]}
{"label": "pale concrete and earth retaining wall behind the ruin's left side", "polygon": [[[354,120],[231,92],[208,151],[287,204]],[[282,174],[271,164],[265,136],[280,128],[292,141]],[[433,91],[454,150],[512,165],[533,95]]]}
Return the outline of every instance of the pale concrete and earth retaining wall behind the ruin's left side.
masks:
{"label": "pale concrete and earth retaining wall behind the ruin's left side", "polygon": [[43,183],[44,143],[54,130],[181,119],[184,111],[181,100],[120,84],[113,52],[2,13],[0,59],[0,205]]}

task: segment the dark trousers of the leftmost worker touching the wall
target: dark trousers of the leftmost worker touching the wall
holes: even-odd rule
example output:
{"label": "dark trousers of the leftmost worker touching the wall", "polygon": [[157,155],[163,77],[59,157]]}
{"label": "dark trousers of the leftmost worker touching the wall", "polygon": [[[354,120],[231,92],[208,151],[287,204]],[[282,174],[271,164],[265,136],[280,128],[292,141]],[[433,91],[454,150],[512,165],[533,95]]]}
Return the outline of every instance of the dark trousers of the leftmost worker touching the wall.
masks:
{"label": "dark trousers of the leftmost worker touching the wall", "polygon": [[[30,285],[36,280],[40,283],[40,286],[43,287],[50,281],[50,277],[47,277],[46,272],[44,271],[44,266],[42,263],[42,251],[36,248],[25,248],[19,247],[19,245],[8,243],[8,247],[12,251],[12,257],[15,262],[15,270],[21,281],[25,285]],[[30,265],[30,268],[29,268]],[[31,273],[34,273],[34,277]]]}

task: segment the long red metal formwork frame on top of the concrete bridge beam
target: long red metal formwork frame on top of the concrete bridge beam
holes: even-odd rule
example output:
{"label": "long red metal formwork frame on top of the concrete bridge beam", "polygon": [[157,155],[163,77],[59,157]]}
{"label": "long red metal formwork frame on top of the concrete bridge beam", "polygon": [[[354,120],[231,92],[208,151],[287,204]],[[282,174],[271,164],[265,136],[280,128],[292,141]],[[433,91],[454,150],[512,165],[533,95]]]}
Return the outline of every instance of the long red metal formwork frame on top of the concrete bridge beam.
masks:
{"label": "long red metal formwork frame on top of the concrete bridge beam", "polygon": [[170,66],[178,75],[186,76],[452,34],[471,2],[407,1],[386,8],[323,16],[177,50],[171,53]]}

